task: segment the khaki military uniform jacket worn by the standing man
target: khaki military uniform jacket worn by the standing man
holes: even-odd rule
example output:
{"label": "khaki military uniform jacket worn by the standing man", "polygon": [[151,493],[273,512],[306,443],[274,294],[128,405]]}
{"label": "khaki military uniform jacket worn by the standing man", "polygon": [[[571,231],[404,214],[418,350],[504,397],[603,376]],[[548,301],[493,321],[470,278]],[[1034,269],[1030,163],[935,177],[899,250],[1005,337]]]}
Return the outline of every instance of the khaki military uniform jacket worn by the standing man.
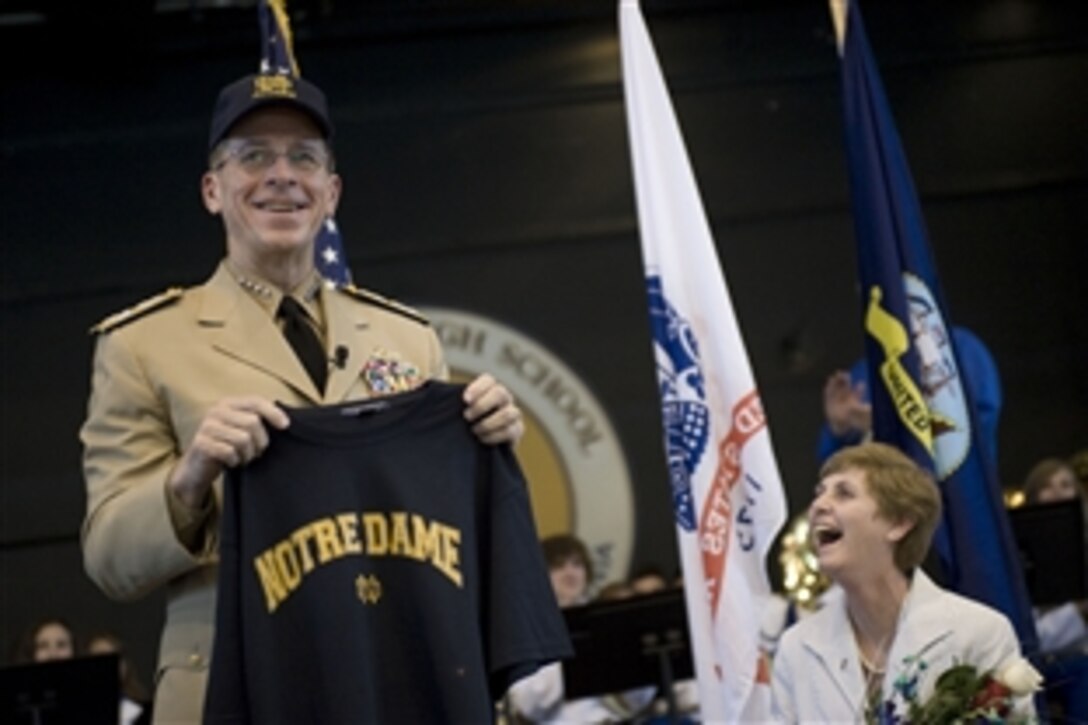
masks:
{"label": "khaki military uniform jacket worn by the standing man", "polygon": [[320,299],[329,348],[348,351],[343,369],[330,370],[324,395],[269,312],[224,265],[201,286],[100,325],[81,431],[84,565],[113,599],[133,600],[165,586],[158,723],[197,723],[203,708],[222,480],[211,512],[195,521],[190,546],[178,539],[165,481],[207,410],[239,395],[289,406],[366,398],[371,391],[360,372],[369,359],[415,366],[419,381],[446,377],[437,336],[425,321],[368,293],[324,290]]}

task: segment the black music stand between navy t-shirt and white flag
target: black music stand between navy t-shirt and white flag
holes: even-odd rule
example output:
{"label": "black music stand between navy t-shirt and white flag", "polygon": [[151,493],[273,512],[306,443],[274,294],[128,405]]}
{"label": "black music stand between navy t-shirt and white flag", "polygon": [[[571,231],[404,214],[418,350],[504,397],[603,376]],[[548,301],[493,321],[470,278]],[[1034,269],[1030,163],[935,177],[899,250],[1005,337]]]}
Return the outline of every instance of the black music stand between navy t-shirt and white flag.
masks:
{"label": "black music stand between navy t-shirt and white flag", "polygon": [[574,656],[562,661],[567,699],[657,685],[676,721],[672,685],[693,676],[683,590],[562,611]]}

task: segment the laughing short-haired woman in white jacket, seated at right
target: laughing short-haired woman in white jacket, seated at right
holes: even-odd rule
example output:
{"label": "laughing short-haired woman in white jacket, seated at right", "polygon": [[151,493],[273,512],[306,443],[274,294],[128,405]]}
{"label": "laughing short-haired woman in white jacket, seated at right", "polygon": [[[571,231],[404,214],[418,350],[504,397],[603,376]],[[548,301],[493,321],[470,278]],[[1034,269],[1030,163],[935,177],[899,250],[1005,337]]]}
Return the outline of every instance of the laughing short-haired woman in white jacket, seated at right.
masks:
{"label": "laughing short-haired woman in white jacket, seated at right", "polygon": [[1034,716],[1037,673],[1012,624],[919,568],[940,511],[930,475],[892,446],[850,446],[824,464],[808,521],[819,568],[841,595],[782,635],[776,722],[899,722],[954,665],[1026,673],[1014,712]]}

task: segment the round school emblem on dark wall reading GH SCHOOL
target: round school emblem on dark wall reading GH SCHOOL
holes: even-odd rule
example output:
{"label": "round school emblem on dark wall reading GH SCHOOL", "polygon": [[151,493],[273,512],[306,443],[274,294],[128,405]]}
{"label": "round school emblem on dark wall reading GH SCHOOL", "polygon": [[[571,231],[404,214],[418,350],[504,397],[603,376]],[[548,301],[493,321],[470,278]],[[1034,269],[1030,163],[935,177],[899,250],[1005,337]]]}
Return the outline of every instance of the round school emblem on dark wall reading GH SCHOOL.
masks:
{"label": "round school emblem on dark wall reading GH SCHOOL", "polygon": [[573,533],[594,558],[596,583],[627,577],[634,495],[619,438],[590,389],[521,332],[462,310],[420,307],[442,341],[452,379],[489,372],[518,401],[517,447],[541,538]]}

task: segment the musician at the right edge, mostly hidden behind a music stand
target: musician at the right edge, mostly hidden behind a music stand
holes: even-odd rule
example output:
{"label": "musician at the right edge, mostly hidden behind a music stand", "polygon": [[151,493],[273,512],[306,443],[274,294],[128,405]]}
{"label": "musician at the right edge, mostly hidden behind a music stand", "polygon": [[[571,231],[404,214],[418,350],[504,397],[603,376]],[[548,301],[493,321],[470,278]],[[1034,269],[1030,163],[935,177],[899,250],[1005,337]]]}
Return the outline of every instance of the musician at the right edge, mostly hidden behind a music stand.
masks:
{"label": "musician at the right edge, mostly hidden behind a music stand", "polygon": [[[1080,502],[1088,554],[1088,493],[1073,466],[1060,458],[1044,458],[1024,480],[1026,505],[1074,500]],[[1036,607],[1035,629],[1046,655],[1048,701],[1061,710],[1065,722],[1088,722],[1088,600]]]}

